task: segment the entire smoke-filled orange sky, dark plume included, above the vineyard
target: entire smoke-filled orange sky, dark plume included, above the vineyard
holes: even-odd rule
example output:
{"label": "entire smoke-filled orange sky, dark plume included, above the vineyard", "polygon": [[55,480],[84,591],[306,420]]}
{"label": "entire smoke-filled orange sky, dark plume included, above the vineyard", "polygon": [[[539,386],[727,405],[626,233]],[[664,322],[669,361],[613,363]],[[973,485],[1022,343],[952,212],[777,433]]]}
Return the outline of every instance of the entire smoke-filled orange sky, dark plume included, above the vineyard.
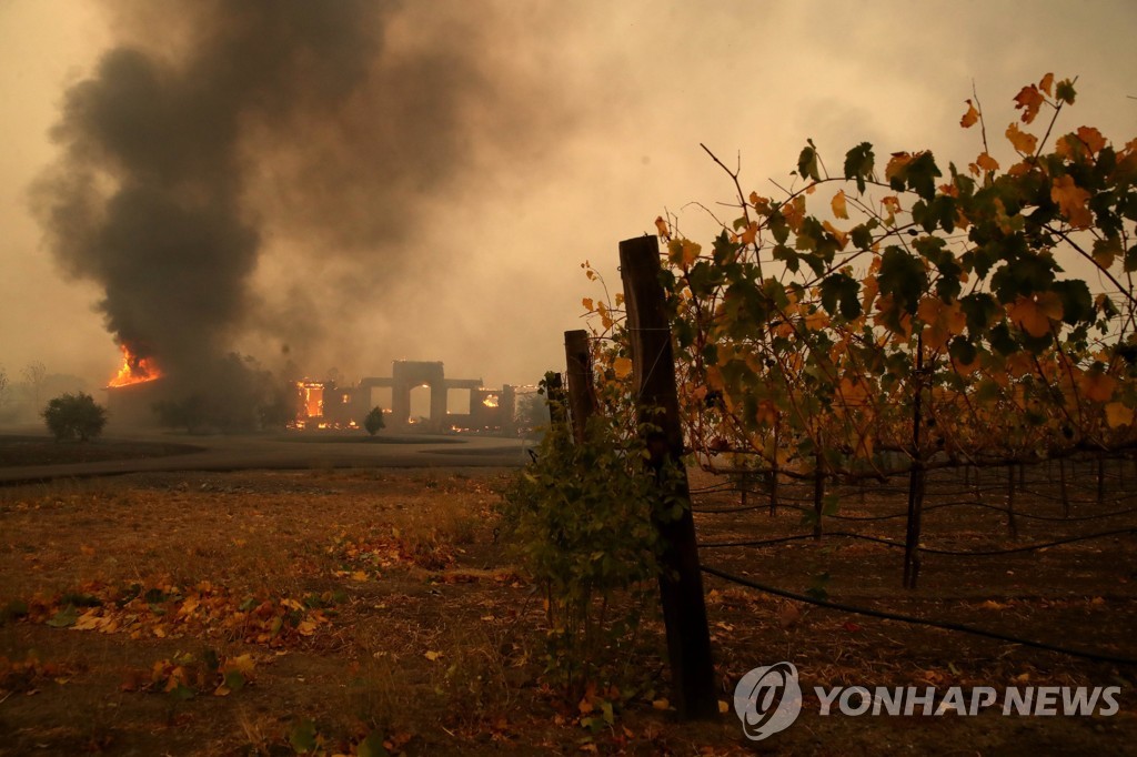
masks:
{"label": "entire smoke-filled orange sky, dark plume included, above the vineyard", "polygon": [[0,0],[0,367],[94,390],[107,323],[190,376],[236,350],[533,382],[604,296],[581,261],[615,290],[657,215],[729,222],[700,142],[763,196],[806,138],[830,170],[862,140],[965,165],[974,84],[1009,165],[1046,72],[1079,77],[1055,133],[1124,142],[1135,24],[1131,0]]}

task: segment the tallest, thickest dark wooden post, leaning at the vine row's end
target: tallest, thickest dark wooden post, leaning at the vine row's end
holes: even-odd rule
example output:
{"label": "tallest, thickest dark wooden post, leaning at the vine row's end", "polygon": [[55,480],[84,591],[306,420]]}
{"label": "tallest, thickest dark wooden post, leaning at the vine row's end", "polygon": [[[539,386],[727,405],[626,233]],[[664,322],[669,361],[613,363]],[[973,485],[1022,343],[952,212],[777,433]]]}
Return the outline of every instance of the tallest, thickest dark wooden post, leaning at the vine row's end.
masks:
{"label": "tallest, thickest dark wooden post, leaning at the vine row's end", "polygon": [[[647,438],[650,465],[670,497],[690,501],[683,468],[683,433],[675,393],[675,363],[671,324],[659,285],[659,246],[654,236],[620,242],[620,274],[624,284],[628,331],[632,344],[632,388],[639,398],[639,421],[658,431]],[[659,475],[664,464],[678,466],[679,476]],[[680,717],[719,717],[711,632],[703,597],[703,574],[690,506],[679,519],[656,521],[664,542],[659,594],[667,629],[667,657]]]}

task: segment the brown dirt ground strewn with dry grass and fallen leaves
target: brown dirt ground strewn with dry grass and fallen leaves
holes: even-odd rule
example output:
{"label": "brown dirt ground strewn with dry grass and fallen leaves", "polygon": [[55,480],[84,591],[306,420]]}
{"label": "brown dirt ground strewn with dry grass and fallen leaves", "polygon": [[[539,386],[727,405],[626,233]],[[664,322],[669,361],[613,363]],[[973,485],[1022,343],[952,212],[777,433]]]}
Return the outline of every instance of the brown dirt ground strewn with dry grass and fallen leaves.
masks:
{"label": "brown dirt ground strewn with dry grass and fallen leaves", "polygon": [[[931,482],[928,547],[991,550],[1137,527],[1137,472],[1053,468],[1004,513],[1005,473]],[[1137,668],[782,600],[707,579],[723,704],[792,662],[805,708],[761,742],[732,712],[677,723],[663,630],[644,608],[623,691],[565,701],[543,675],[540,592],[497,539],[508,471],[146,473],[0,489],[0,755],[1137,754]],[[705,544],[803,534],[805,486],[715,491],[692,474]],[[903,539],[903,483],[840,492],[829,532]],[[933,508],[937,504],[980,505]],[[735,510],[735,511],[724,511]],[[1109,515],[1109,514],[1113,515]],[[1027,515],[1036,518],[1026,517]],[[1109,517],[1097,517],[1109,515]],[[1053,519],[1038,519],[1053,518]],[[1134,535],[984,557],[831,536],[709,547],[704,564],[830,599],[1137,657]],[[828,574],[828,581],[820,576]],[[1113,716],[821,717],[814,685],[1117,685]],[[589,715],[611,706],[611,718]],[[607,721],[611,719],[611,723]]]}

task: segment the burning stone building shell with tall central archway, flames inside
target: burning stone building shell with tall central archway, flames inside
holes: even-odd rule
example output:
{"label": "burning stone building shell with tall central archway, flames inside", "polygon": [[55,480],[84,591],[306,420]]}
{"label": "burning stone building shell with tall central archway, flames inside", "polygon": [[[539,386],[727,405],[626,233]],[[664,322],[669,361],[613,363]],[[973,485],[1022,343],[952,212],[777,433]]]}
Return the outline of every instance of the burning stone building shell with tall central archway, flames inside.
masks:
{"label": "burning stone building shell with tall central archway, flames inside", "polygon": [[[412,417],[410,393],[430,390],[430,415]],[[333,381],[301,381],[297,425],[302,427],[354,427],[373,407],[372,390],[390,389],[390,407],[383,407],[387,427],[397,431],[500,431],[513,433],[516,389],[505,384],[488,389],[481,378],[447,378],[441,361],[396,360],[391,375],[366,377],[354,386],[338,386]],[[449,413],[447,394],[451,390],[470,392],[466,413]]]}

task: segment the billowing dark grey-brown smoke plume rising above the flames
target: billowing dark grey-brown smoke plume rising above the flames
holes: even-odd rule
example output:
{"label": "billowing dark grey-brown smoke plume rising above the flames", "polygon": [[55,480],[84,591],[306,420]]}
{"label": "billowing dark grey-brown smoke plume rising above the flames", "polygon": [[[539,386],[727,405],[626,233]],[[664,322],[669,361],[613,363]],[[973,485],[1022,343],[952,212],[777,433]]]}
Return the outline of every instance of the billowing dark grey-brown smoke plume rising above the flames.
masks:
{"label": "billowing dark grey-brown smoke plume rising above the flames", "polygon": [[[507,107],[520,75],[457,5],[426,31],[380,0],[116,3],[111,18],[122,42],[67,90],[33,202],[64,271],[102,288],[108,331],[183,384],[252,331],[302,351],[445,255],[415,248],[423,215],[487,144],[524,151],[538,131]],[[257,293],[269,239],[326,261],[334,301],[310,278],[277,282],[287,308]]]}

